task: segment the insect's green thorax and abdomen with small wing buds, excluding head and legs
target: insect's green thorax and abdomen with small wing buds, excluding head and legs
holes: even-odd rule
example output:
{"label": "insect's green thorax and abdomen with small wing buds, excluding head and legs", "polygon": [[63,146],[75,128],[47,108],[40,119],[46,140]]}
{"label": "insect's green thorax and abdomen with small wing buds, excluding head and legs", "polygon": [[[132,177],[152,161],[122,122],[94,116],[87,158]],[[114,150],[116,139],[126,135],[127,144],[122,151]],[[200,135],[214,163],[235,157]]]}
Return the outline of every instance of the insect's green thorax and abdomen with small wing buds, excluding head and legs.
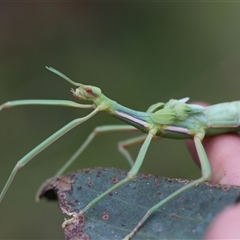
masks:
{"label": "insect's green thorax and abdomen with small wing buds, excluding head and legs", "polygon": [[[168,106],[171,101],[175,102],[173,107]],[[159,129],[157,135],[165,138],[193,138],[198,132],[203,132],[209,136],[240,131],[240,101],[219,103],[207,107],[186,104],[182,103],[181,100],[174,99],[169,102],[161,104],[160,109],[147,112],[134,111],[117,104],[113,114],[144,132],[148,132],[151,126],[155,126]],[[182,119],[181,109],[179,113],[174,113],[174,108],[178,105],[187,109],[183,110],[184,114],[187,112],[187,116],[183,116]],[[170,111],[166,112],[166,110]],[[159,116],[156,117],[156,113]],[[163,114],[165,114],[164,117]]]}

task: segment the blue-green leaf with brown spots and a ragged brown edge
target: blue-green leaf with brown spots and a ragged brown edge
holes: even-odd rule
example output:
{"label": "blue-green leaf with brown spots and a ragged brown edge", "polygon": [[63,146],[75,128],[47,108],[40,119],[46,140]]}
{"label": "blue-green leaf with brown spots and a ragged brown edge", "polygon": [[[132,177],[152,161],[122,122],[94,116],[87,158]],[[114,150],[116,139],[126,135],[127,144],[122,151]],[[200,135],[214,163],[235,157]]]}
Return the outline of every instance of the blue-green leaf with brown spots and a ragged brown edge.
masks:
{"label": "blue-green leaf with brown spots and a ragged brown edge", "polygon": [[[48,180],[39,191],[41,198],[54,200],[63,213],[78,213],[92,199],[126,177],[113,168],[83,169]],[[67,225],[65,238],[122,239],[146,211],[188,180],[138,174],[90,208],[78,221]],[[57,194],[57,195],[56,195]],[[239,187],[200,184],[185,191],[152,214],[134,239],[201,239],[213,218],[240,194]]]}

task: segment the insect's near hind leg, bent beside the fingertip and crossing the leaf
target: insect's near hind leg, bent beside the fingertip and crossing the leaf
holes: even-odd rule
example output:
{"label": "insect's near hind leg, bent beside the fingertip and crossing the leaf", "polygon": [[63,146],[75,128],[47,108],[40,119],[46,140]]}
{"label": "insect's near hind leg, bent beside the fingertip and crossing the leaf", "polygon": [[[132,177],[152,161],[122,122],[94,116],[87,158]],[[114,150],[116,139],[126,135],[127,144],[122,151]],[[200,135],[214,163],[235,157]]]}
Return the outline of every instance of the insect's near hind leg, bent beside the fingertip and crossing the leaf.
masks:
{"label": "insect's near hind leg, bent beside the fingertip and crossing the leaf", "polygon": [[197,153],[198,153],[198,156],[199,156],[199,159],[200,159],[200,164],[201,164],[201,169],[202,169],[201,170],[202,171],[202,177],[195,180],[195,181],[192,181],[191,183],[187,184],[186,186],[178,189],[177,191],[173,192],[171,195],[169,195],[168,197],[166,197],[165,199],[163,199],[162,201],[160,201],[159,203],[157,203],[156,205],[151,207],[147,211],[147,213],[144,215],[144,217],[141,219],[141,221],[137,224],[137,226],[133,229],[133,231],[130,234],[128,234],[124,238],[124,240],[128,240],[128,239],[132,238],[134,236],[134,234],[139,230],[139,228],[141,228],[141,226],[144,224],[144,222],[148,219],[148,217],[152,213],[156,212],[159,209],[159,207],[163,206],[169,200],[171,200],[172,198],[176,197],[177,195],[183,193],[187,189],[192,188],[195,185],[203,183],[203,182],[210,179],[210,177],[211,177],[211,167],[210,167],[210,163],[209,163],[207,154],[206,154],[206,152],[203,148],[202,142],[201,142],[202,137],[196,135],[193,140],[194,140],[194,143],[195,143],[195,146],[196,146],[196,149],[197,149]]}

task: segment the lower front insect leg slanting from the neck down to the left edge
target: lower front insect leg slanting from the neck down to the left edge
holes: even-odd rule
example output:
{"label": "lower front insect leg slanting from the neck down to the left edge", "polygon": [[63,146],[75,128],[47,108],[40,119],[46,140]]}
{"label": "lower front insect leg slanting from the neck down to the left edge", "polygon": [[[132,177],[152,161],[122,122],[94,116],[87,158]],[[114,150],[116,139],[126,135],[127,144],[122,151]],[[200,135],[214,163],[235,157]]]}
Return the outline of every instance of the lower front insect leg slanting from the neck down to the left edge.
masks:
{"label": "lower front insect leg slanting from the neck down to the left edge", "polygon": [[76,127],[77,125],[85,122],[89,118],[91,118],[93,115],[95,115],[98,112],[98,108],[96,108],[94,111],[92,111],[90,114],[83,118],[78,118],[61,129],[59,129],[57,132],[52,134],[50,137],[48,137],[46,140],[44,140],[42,143],[40,143],[38,146],[36,146],[34,149],[32,149],[28,154],[26,154],[23,158],[21,158],[17,164],[15,165],[14,169],[12,170],[1,194],[0,194],[0,202],[2,201],[4,195],[6,194],[8,188],[10,187],[17,171],[22,168],[25,164],[27,164],[32,158],[34,158],[37,154],[39,154],[41,151],[43,151],[46,147],[48,147],[50,144],[52,144],[54,141],[56,141],[58,138],[60,138],[62,135],[70,131],[72,128]]}

